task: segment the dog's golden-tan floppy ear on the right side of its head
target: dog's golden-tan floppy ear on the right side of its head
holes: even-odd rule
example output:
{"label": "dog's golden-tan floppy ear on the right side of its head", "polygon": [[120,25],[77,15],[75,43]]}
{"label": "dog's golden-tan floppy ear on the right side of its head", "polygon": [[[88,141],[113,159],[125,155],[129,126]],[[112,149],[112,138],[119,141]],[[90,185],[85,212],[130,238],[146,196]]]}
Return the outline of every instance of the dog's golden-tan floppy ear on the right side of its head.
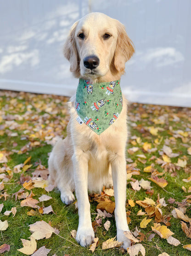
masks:
{"label": "dog's golden-tan floppy ear on the right side of its head", "polygon": [[118,41],[114,54],[114,66],[119,71],[122,72],[125,69],[125,62],[127,62],[135,52],[133,42],[130,40],[129,36],[125,31],[125,27],[118,20],[117,30],[118,30]]}

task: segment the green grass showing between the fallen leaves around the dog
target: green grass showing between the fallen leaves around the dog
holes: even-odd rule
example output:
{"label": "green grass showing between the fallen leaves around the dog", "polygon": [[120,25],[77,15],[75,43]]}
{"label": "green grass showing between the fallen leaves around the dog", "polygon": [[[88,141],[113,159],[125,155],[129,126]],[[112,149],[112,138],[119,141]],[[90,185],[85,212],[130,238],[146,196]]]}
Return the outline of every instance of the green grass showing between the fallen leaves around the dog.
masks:
{"label": "green grass showing between the fallen leaves around the dog", "polygon": [[[41,239],[37,241],[37,249],[44,246],[47,249],[51,249],[49,255],[56,254],[57,256],[63,256],[69,254],[71,256],[76,255],[96,255],[96,256],[117,256],[122,255],[122,250],[118,248],[102,250],[101,246],[104,241],[109,238],[113,238],[116,235],[116,226],[114,216],[112,218],[106,218],[102,220],[101,227],[97,227],[96,237],[99,238],[100,243],[94,253],[88,248],[82,248],[78,246],[74,238],[71,237],[70,232],[77,230],[78,228],[78,210],[75,209],[75,205],[71,204],[66,206],[60,199],[60,193],[57,189],[51,192],[46,192],[42,188],[34,188],[33,198],[38,199],[42,194],[46,194],[52,197],[51,200],[44,202],[44,206],[51,205],[54,213],[40,214],[37,216],[28,216],[27,212],[31,210],[29,207],[21,207],[21,200],[15,201],[15,197],[12,194],[22,188],[20,184],[20,176],[30,175],[32,176],[33,171],[37,167],[37,162],[41,163],[45,167],[48,167],[48,153],[51,152],[52,146],[48,144],[51,139],[49,137],[65,137],[66,126],[69,120],[67,113],[67,100],[68,98],[63,96],[55,95],[36,95],[23,92],[10,92],[0,91],[0,151],[3,154],[8,154],[7,163],[0,163],[0,167],[8,166],[11,170],[13,167],[23,163],[29,156],[31,156],[32,167],[21,173],[13,173],[13,177],[6,183],[4,191],[0,191],[0,195],[6,191],[9,195],[7,200],[4,201],[4,197],[0,198],[0,203],[4,204],[3,210],[0,213],[0,220],[8,221],[8,228],[0,233],[0,245],[9,244],[11,249],[9,252],[4,252],[2,255],[5,256],[16,256],[23,255],[17,249],[22,248],[21,238],[28,239],[31,235],[29,231],[29,225],[34,224],[36,221],[44,220],[46,222],[51,221],[51,225],[57,228],[60,233],[57,236],[52,234],[51,238]],[[20,116],[20,118],[19,118]],[[158,119],[160,116],[165,116],[164,124],[155,124],[154,119]],[[179,118],[179,121],[174,121],[174,118]],[[11,123],[12,122],[12,123]],[[13,127],[11,127],[13,125]],[[15,126],[15,127],[14,127]],[[153,136],[147,129],[147,127],[154,126],[156,128],[163,128],[163,131],[158,131],[157,136]],[[11,128],[10,128],[11,127]],[[174,198],[176,202],[181,202],[185,199],[185,196],[189,193],[185,193],[182,190],[182,186],[188,189],[191,186],[190,183],[185,183],[182,179],[186,179],[191,175],[191,155],[188,154],[187,148],[191,147],[191,109],[180,108],[180,107],[167,107],[167,106],[154,106],[146,104],[130,104],[129,105],[129,143],[127,149],[133,146],[139,147],[139,150],[132,155],[128,155],[133,162],[137,164],[136,168],[140,169],[140,175],[134,175],[133,179],[140,180],[141,178],[148,180],[151,177],[151,173],[144,173],[144,167],[154,164],[154,168],[158,172],[164,173],[163,178],[168,181],[168,185],[163,189],[157,184],[151,182],[154,193],[151,196],[146,194],[146,190],[141,189],[140,191],[134,191],[129,183],[127,183],[127,199],[144,200],[145,197],[152,198],[155,202],[157,201],[157,195],[160,198],[165,197],[165,201],[168,203],[170,197]],[[187,137],[175,137],[173,131],[182,130],[188,131]],[[16,137],[12,137],[11,133],[17,132]],[[135,138],[137,136],[141,138],[140,144],[135,144]],[[24,140],[21,138],[25,137]],[[172,140],[174,137],[174,140]],[[155,143],[155,139],[161,141],[159,145]],[[39,145],[33,145],[34,142],[40,142]],[[145,152],[142,148],[142,144],[148,142],[152,143],[152,148],[156,147],[157,150],[152,153]],[[15,144],[17,143],[17,145]],[[133,145],[133,144],[135,145]],[[187,159],[187,165],[185,168],[178,168],[172,173],[164,172],[164,168],[158,165],[155,160],[150,160],[154,155],[156,158],[162,159],[159,151],[162,150],[163,145],[169,143],[169,147],[173,149],[173,153],[179,153],[179,157],[171,158],[172,163],[177,163],[178,158]],[[20,150],[24,146],[28,146],[22,153]],[[5,153],[6,152],[6,153]],[[19,153],[18,153],[19,152]],[[22,153],[22,154],[20,154]],[[141,163],[138,161],[138,154],[144,154],[146,156],[146,162]],[[128,163],[129,164],[129,163]],[[8,173],[5,172],[8,176]],[[1,181],[1,180],[0,180]],[[25,190],[27,191],[27,190]],[[30,193],[30,191],[28,191]],[[173,193],[173,194],[172,194]],[[114,198],[111,198],[113,201]],[[96,218],[96,205],[97,202],[91,202],[91,213],[92,221]],[[42,206],[42,203],[39,203]],[[12,214],[9,216],[4,215],[6,210],[11,210],[12,207],[17,207],[17,213],[15,217]],[[191,252],[185,250],[182,246],[185,244],[191,244],[191,239],[187,238],[185,233],[181,229],[181,220],[175,219],[171,212],[174,208],[178,208],[176,203],[169,204],[166,207],[162,207],[163,215],[170,217],[169,222],[171,226],[169,229],[174,232],[173,237],[180,240],[179,246],[173,246],[168,244],[166,239],[160,238],[157,234],[151,242],[147,241],[146,238],[152,232],[152,226],[154,224],[154,217],[152,221],[147,225],[146,228],[140,228],[140,221],[145,218],[144,216],[138,216],[137,212],[144,208],[138,204],[135,207],[130,207],[127,204],[127,210],[130,211],[129,223],[130,230],[134,230],[137,226],[141,232],[146,235],[146,238],[141,242],[146,249],[146,256],[157,256],[162,252],[168,253],[170,256],[188,256]],[[36,210],[38,212],[38,210]],[[191,206],[186,205],[186,214],[191,217]],[[147,217],[148,218],[148,217]],[[103,224],[106,220],[111,221],[111,227],[108,231],[104,229]],[[165,225],[161,223],[161,225]],[[187,223],[189,226],[189,224]],[[139,255],[141,255],[139,253]]]}

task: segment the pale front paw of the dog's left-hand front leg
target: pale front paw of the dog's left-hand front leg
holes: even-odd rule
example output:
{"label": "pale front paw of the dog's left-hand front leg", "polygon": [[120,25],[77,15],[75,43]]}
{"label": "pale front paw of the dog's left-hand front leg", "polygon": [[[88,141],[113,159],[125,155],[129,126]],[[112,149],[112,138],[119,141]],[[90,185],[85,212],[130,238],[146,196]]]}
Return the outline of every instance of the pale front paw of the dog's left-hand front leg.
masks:
{"label": "pale front paw of the dog's left-hand front leg", "polygon": [[95,238],[94,230],[91,227],[79,227],[76,234],[76,241],[83,247],[88,247]]}

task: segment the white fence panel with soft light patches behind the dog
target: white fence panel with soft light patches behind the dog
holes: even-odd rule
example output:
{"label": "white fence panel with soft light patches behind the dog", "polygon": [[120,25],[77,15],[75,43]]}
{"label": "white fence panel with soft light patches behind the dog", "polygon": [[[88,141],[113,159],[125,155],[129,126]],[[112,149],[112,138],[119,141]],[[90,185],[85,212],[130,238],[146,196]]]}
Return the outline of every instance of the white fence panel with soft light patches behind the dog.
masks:
{"label": "white fence panel with soft light patches behind the dog", "polygon": [[190,0],[0,0],[0,89],[72,95],[62,47],[90,10],[120,20],[135,44],[121,82],[130,101],[191,107]]}

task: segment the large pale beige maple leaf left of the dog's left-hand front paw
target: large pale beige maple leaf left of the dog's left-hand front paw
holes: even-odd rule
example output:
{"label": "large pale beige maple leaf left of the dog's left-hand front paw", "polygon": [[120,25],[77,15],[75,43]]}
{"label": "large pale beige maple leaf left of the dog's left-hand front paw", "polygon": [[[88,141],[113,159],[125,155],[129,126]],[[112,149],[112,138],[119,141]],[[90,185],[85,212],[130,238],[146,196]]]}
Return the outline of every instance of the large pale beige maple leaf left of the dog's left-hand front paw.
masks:
{"label": "large pale beige maple leaf left of the dog's left-hand front paw", "polygon": [[50,238],[52,233],[56,231],[55,228],[51,227],[47,222],[44,220],[36,221],[34,224],[29,225],[30,232],[32,232],[31,237],[35,238],[36,240],[42,238]]}

